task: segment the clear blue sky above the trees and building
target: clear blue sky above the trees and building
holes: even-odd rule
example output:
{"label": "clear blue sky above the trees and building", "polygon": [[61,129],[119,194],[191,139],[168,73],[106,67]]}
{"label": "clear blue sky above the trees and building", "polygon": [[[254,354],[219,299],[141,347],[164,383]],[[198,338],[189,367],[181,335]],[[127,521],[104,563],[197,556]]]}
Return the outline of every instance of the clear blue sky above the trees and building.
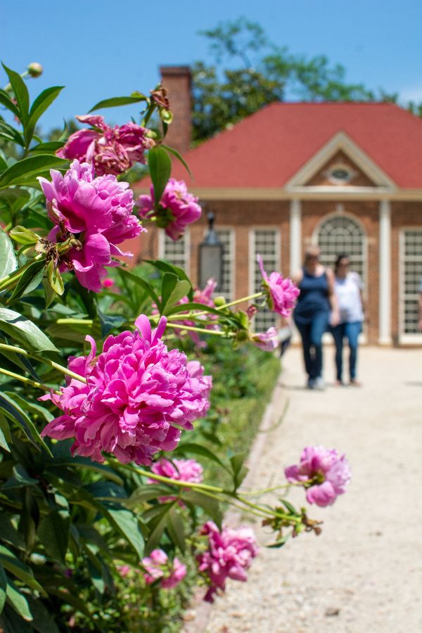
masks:
{"label": "clear blue sky above the trees and building", "polygon": [[[159,65],[210,61],[198,31],[240,15],[259,22],[291,53],[325,54],[343,64],[349,82],[422,101],[421,0],[260,0],[250,6],[240,0],[8,1],[0,58],[19,71],[30,61],[44,66],[44,74],[28,82],[33,95],[66,86],[41,119],[49,129],[102,98],[148,91],[158,82]],[[109,110],[108,119],[123,122],[127,114]]]}

